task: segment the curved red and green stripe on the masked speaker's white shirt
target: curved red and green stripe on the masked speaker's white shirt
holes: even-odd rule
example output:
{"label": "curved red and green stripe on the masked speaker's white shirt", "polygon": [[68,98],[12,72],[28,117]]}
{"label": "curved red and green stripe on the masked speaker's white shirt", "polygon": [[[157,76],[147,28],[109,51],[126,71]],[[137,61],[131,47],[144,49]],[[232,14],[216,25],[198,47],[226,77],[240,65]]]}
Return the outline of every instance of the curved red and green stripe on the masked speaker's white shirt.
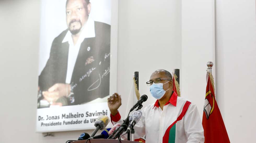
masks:
{"label": "curved red and green stripe on the masked speaker's white shirt", "polygon": [[189,105],[191,102],[186,101],[186,103],[183,106],[181,114],[178,116],[177,120],[174,121],[165,131],[165,134],[163,136],[163,143],[175,143],[175,134],[176,134],[176,123],[181,120],[184,115],[186,114]]}

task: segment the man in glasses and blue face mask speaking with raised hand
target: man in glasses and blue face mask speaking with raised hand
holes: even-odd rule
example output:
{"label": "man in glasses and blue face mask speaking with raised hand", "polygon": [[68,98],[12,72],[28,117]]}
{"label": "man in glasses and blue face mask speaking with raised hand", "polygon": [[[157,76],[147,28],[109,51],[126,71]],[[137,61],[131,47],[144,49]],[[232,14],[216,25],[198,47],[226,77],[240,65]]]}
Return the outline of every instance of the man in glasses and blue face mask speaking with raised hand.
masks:
{"label": "man in glasses and blue face mask speaking with raised hand", "polygon": [[[147,85],[156,102],[142,110],[141,120],[134,127],[134,138],[146,135],[147,143],[203,143],[203,127],[197,107],[172,91],[170,72],[156,70]],[[114,93],[108,98],[114,125],[123,122],[118,112],[120,106],[120,95]]]}

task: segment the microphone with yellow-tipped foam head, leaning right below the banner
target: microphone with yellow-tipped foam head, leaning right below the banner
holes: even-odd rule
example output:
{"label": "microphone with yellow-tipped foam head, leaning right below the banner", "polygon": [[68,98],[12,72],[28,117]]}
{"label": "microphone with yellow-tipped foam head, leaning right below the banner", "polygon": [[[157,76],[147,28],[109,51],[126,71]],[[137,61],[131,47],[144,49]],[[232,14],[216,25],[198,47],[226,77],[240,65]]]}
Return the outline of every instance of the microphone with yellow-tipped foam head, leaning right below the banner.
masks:
{"label": "microphone with yellow-tipped foam head, leaning right below the banner", "polygon": [[93,137],[98,130],[102,130],[104,129],[109,123],[109,118],[106,115],[100,115],[98,116],[97,120],[94,122],[94,126],[96,127],[96,129],[92,132],[91,137]]}

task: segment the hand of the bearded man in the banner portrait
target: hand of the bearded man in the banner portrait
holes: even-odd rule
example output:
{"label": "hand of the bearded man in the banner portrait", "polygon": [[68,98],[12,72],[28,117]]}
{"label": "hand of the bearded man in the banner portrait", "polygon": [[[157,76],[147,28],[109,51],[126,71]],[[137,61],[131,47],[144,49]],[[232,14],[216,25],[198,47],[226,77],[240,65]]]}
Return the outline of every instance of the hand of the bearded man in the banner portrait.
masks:
{"label": "hand of the bearded man in the banner portrait", "polygon": [[70,84],[56,83],[48,89],[48,91],[42,92],[44,98],[49,103],[55,103],[57,99],[62,96],[68,96],[70,94]]}

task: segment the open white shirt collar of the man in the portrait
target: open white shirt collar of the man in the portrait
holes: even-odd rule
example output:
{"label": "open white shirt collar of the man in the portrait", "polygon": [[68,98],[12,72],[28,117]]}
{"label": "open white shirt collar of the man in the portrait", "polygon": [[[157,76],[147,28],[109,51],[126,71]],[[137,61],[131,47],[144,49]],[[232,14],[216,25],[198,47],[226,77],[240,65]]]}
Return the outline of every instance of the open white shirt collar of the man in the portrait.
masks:
{"label": "open white shirt collar of the man in the portrait", "polygon": [[[79,36],[78,40],[84,40],[84,38],[91,38],[95,37],[95,28],[94,28],[94,20],[89,16],[86,24],[82,27],[82,33]],[[62,43],[64,42],[73,42],[71,32],[68,30],[66,36],[64,37]]]}

